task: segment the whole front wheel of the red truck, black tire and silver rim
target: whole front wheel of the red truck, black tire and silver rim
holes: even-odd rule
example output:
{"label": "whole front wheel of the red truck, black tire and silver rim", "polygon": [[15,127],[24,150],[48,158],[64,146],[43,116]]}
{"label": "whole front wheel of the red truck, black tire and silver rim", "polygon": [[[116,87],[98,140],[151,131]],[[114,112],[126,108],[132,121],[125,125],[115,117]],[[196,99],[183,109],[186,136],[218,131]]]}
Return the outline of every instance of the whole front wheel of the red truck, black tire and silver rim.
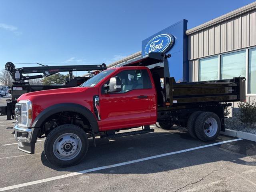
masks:
{"label": "whole front wheel of the red truck, black tire and silver rim", "polygon": [[78,164],[86,156],[87,151],[86,133],[79,126],[72,124],[56,127],[48,134],[44,142],[46,159],[58,167]]}

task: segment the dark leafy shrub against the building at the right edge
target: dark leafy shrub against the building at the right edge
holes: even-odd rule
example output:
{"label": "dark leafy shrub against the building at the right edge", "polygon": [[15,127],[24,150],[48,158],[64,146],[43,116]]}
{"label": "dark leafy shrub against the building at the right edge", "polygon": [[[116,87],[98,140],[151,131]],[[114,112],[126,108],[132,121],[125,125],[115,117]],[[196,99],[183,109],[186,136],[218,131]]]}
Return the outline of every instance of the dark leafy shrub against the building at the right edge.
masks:
{"label": "dark leafy shrub against the building at the right edge", "polygon": [[254,123],[256,123],[256,102],[255,101],[253,101],[252,103],[240,102],[238,104],[238,108],[240,112],[236,114],[236,117],[240,119],[241,122],[249,126],[252,126]]}

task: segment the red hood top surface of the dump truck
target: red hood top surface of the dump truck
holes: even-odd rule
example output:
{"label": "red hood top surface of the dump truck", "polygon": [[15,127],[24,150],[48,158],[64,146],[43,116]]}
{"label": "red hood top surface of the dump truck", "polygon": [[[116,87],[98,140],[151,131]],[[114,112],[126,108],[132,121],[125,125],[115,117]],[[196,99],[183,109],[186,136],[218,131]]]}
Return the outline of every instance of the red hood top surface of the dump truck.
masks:
{"label": "red hood top surface of the dump truck", "polygon": [[87,90],[90,87],[72,87],[72,88],[61,88],[61,89],[50,89],[50,90],[44,90],[44,91],[35,91],[35,92],[30,92],[30,93],[25,93],[22,94],[19,98],[18,101],[20,100],[30,100],[34,96],[49,96],[49,95],[56,95],[56,94],[68,94],[68,93],[79,93],[82,91]]}

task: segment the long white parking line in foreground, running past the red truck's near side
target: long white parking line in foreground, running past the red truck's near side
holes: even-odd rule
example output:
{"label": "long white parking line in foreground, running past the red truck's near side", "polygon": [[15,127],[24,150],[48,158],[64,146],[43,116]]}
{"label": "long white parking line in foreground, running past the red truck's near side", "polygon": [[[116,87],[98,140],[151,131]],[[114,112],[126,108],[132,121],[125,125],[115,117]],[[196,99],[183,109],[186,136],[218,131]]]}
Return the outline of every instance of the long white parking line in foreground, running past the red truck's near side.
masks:
{"label": "long white parking line in foreground, running past the red truck's near side", "polygon": [[132,163],[137,163],[137,162],[142,162],[142,161],[160,158],[160,157],[164,157],[164,156],[170,156],[170,155],[174,155],[174,154],[184,153],[184,152],[188,152],[188,151],[193,151],[193,150],[197,150],[197,149],[202,149],[202,148],[206,148],[206,147],[216,146],[216,145],[239,141],[239,140],[243,140],[243,139],[238,138],[238,139],[233,139],[233,140],[227,140],[227,141],[222,141],[222,142],[213,143],[213,144],[209,144],[209,145],[203,145],[203,146],[199,146],[199,147],[184,149],[184,150],[180,150],[180,151],[164,153],[164,154],[160,154],[160,155],[154,155],[154,156],[141,158],[141,159],[137,159],[137,160],[126,161],[126,162],[112,164],[112,165],[108,165],[108,166],[87,169],[87,170],[83,170],[83,171],[79,171],[79,172],[73,172],[73,173],[69,173],[69,174],[64,174],[64,175],[60,175],[60,176],[55,176],[55,177],[36,180],[36,181],[32,181],[32,182],[22,183],[22,184],[18,184],[18,185],[12,185],[12,186],[8,186],[8,187],[0,188],[0,191],[6,191],[6,190],[16,189],[16,188],[20,188],[20,187],[26,187],[26,186],[30,186],[30,185],[39,184],[39,183],[44,183],[44,182],[63,179],[63,178],[71,177],[71,176],[76,176],[76,175],[80,175],[80,174],[84,174],[84,173],[88,173],[88,172],[93,172],[93,171],[98,171],[98,170],[103,170],[103,169],[108,169],[108,168],[113,168],[113,167],[118,167],[118,166],[124,166],[124,165],[132,164]]}

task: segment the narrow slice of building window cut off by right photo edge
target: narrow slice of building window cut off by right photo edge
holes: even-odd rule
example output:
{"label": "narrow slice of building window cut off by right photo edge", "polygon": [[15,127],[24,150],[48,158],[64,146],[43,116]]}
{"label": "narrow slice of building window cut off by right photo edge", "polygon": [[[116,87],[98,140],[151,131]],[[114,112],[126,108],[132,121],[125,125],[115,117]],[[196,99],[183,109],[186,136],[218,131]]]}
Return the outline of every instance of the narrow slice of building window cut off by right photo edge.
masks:
{"label": "narrow slice of building window cut off by right photo edge", "polygon": [[249,49],[248,93],[256,94],[256,48]]}

